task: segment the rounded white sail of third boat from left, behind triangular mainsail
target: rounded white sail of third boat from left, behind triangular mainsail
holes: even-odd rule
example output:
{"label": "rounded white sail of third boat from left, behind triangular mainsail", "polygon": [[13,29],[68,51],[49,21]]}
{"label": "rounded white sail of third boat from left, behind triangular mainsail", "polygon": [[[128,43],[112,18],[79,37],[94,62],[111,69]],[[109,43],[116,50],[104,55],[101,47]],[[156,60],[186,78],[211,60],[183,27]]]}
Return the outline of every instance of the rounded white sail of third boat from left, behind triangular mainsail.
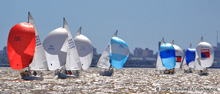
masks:
{"label": "rounded white sail of third boat from left, behind triangular mainsail", "polygon": [[90,67],[93,58],[92,42],[81,34],[81,27],[78,30],[74,42],[81,61],[82,69],[86,70]]}

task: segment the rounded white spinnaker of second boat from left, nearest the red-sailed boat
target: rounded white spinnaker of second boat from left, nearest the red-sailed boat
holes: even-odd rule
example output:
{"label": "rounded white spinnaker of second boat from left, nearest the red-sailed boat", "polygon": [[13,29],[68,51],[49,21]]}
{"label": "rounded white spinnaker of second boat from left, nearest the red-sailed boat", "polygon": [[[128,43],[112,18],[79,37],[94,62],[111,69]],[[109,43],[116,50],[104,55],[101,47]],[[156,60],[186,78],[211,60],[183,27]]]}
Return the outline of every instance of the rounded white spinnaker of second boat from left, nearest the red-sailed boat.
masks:
{"label": "rounded white spinnaker of second boat from left, nearest the red-sailed boat", "polygon": [[49,70],[60,69],[66,63],[66,52],[61,51],[66,39],[67,30],[63,27],[51,31],[43,42]]}

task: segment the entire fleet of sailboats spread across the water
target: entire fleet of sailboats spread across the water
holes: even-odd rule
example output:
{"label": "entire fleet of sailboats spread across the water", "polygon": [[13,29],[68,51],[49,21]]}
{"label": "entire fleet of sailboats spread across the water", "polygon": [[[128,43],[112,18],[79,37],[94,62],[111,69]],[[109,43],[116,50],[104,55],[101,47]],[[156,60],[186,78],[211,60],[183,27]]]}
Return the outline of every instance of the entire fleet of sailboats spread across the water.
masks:
{"label": "entire fleet of sailboats spread across the water", "polygon": [[[89,69],[93,58],[92,42],[81,34],[81,27],[73,37],[66,19],[63,26],[51,31],[43,43],[33,17],[28,13],[28,22],[16,24],[8,36],[8,58],[14,70],[20,70],[24,80],[43,80],[43,71],[54,71],[58,78],[78,78],[80,71]],[[129,56],[129,47],[116,31],[103,51],[97,67],[100,75],[112,76],[114,68],[121,69]],[[182,50],[179,46],[162,39],[156,61],[156,70],[164,74],[174,74],[175,69],[185,73],[198,71],[208,75],[207,68],[213,64],[214,50],[201,38],[196,49]],[[28,71],[21,71],[27,68]],[[32,72],[34,75],[32,75]]]}

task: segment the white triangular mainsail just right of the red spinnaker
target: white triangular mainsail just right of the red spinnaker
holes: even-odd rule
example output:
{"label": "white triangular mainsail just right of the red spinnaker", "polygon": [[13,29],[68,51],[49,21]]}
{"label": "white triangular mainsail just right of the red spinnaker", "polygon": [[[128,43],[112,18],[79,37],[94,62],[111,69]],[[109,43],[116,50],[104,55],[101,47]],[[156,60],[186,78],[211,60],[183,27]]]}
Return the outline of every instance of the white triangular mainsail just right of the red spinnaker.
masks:
{"label": "white triangular mainsail just right of the red spinnaker", "polygon": [[34,19],[31,16],[30,12],[28,13],[28,22],[34,26],[35,37],[36,37],[34,58],[32,63],[29,65],[30,70],[48,70],[47,59],[44,52],[44,48],[41,43],[40,36],[37,27],[35,25]]}

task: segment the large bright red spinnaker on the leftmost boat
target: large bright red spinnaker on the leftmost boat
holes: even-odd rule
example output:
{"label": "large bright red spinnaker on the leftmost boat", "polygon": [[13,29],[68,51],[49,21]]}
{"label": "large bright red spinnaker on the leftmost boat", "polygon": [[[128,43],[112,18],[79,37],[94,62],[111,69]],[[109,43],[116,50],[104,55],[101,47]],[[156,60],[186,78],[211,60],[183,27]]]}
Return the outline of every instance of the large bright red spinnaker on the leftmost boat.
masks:
{"label": "large bright red spinnaker on the leftmost boat", "polygon": [[32,24],[24,22],[11,28],[7,49],[12,69],[23,69],[32,62],[35,43],[35,31]]}

